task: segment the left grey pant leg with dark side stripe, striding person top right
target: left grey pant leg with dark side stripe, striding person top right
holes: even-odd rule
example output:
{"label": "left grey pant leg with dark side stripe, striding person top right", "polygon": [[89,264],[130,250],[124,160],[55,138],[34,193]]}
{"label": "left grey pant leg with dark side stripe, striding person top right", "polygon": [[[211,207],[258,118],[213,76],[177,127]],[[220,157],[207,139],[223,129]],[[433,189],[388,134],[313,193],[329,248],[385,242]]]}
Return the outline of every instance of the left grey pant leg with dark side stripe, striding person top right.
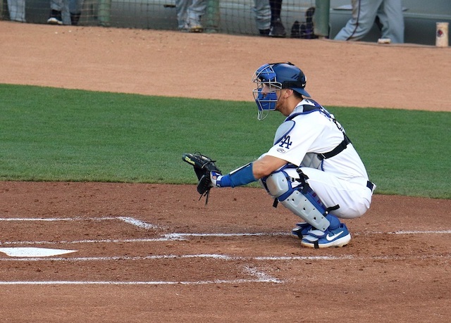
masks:
{"label": "left grey pant leg with dark side stripe, striding person top right", "polygon": [[369,33],[374,25],[378,8],[383,0],[352,0],[352,18],[338,32],[336,40],[358,40]]}

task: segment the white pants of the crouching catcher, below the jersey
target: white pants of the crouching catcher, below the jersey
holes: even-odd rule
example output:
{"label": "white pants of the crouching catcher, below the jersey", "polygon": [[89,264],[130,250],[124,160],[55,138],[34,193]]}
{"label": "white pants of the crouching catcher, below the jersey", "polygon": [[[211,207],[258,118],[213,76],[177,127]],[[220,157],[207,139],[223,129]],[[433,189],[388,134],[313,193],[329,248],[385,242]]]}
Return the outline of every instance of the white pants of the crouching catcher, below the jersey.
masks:
{"label": "white pants of the crouching catcher, below the jersey", "polygon": [[307,183],[326,205],[326,208],[340,205],[340,208],[331,211],[331,214],[344,219],[352,219],[364,215],[369,209],[372,191],[366,187],[366,179],[355,179],[348,182],[315,168],[302,167],[301,169],[309,177]]}

